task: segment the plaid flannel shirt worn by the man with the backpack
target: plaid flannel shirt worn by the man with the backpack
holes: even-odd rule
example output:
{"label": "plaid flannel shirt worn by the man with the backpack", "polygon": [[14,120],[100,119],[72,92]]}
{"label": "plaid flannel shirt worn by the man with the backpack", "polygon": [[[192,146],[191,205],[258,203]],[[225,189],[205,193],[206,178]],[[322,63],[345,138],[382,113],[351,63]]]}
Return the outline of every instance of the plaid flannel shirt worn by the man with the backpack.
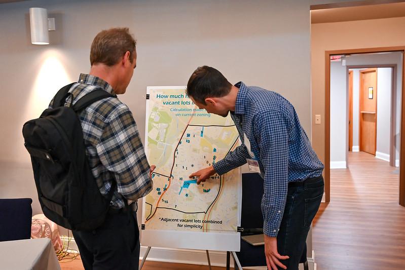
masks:
{"label": "plaid flannel shirt worn by the man with the backpack", "polygon": [[[114,94],[111,85],[102,79],[80,74],[79,82],[69,90],[73,104],[96,89]],[[69,97],[66,104],[70,102]],[[50,107],[52,104],[53,100]],[[118,98],[108,97],[89,105],[79,117],[86,156],[101,194],[106,196],[113,181],[117,182],[111,206],[123,208],[125,199],[136,201],[148,194],[153,185],[150,166],[128,106]]]}

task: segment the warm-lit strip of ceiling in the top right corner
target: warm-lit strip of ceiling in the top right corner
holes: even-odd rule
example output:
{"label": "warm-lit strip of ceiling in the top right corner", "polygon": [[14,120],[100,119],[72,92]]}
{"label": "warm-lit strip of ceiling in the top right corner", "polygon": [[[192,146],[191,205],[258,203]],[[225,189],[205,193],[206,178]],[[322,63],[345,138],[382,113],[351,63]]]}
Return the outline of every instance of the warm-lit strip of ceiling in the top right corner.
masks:
{"label": "warm-lit strip of ceiling in the top right corner", "polygon": [[311,23],[405,17],[405,2],[311,10]]}

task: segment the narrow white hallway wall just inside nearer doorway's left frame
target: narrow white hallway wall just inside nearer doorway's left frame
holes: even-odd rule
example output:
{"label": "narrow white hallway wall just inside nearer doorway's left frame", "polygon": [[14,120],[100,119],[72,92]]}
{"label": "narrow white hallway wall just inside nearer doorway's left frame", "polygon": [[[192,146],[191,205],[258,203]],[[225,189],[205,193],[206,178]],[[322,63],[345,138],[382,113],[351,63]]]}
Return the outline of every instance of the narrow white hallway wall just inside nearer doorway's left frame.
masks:
{"label": "narrow white hallway wall just inside nearer doorway's left frame", "polygon": [[[330,62],[330,168],[346,168],[346,66]],[[342,104],[345,104],[342,106]]]}

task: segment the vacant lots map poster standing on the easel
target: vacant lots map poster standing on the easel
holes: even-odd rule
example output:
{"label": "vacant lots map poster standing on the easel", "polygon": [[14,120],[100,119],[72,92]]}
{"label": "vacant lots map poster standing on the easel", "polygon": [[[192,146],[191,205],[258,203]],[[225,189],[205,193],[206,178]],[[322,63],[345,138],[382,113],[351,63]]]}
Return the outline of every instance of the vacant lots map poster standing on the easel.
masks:
{"label": "vacant lots map poster standing on the easel", "polygon": [[142,228],[235,233],[240,169],[199,185],[189,178],[239,145],[232,119],[200,110],[185,87],[148,87],[148,97],[145,149],[156,169],[153,190],[143,200]]}

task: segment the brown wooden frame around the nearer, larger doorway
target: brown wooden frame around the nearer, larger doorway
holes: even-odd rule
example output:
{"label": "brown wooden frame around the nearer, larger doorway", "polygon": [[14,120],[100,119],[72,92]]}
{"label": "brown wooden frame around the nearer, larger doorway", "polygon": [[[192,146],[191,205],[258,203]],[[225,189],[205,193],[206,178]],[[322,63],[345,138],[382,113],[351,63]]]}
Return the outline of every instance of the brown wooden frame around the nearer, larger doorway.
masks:
{"label": "brown wooden frame around the nearer, larger doorway", "polygon": [[[399,204],[405,207],[405,46],[325,51],[325,201],[330,202],[330,56],[402,52],[401,124],[399,149]],[[404,135],[404,136],[402,136]]]}

